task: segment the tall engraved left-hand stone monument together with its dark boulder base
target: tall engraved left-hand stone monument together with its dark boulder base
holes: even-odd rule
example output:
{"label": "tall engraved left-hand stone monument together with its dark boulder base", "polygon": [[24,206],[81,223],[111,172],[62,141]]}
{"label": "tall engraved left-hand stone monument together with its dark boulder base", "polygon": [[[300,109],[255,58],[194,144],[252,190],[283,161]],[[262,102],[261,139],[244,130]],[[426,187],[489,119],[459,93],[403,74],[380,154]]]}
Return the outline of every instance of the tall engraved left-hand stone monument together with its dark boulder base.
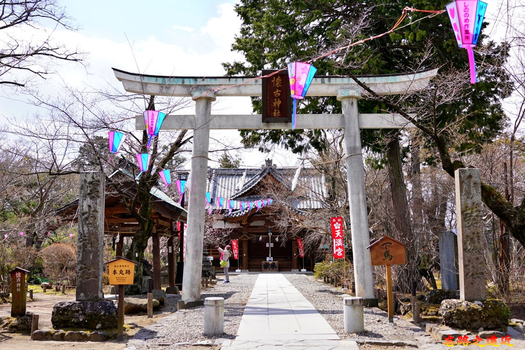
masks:
{"label": "tall engraved left-hand stone monument together with its dark boulder base", "polygon": [[104,173],[81,172],[78,199],[77,297],[53,307],[57,327],[116,328],[117,306],[102,293]]}

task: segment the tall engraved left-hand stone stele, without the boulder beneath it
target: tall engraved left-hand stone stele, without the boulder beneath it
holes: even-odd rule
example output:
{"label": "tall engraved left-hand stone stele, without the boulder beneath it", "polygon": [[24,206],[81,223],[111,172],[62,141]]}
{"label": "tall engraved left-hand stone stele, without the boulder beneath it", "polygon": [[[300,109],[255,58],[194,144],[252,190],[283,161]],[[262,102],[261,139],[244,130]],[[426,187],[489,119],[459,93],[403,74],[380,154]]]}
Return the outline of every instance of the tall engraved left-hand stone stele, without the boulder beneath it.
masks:
{"label": "tall engraved left-hand stone stele, without the boulder beneath it", "polygon": [[104,173],[80,173],[77,301],[100,300],[104,249]]}

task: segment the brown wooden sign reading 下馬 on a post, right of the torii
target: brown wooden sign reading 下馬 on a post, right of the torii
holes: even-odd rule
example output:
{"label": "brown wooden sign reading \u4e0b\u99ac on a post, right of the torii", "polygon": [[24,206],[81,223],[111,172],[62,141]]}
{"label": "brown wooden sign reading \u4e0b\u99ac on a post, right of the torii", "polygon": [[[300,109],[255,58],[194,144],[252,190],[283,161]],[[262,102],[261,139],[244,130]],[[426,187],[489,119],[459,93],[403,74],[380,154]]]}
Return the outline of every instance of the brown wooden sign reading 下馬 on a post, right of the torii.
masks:
{"label": "brown wooden sign reading \u4e0b\u99ac on a post, right of the torii", "polygon": [[392,293],[392,269],[390,265],[406,264],[405,245],[392,237],[382,238],[366,247],[370,249],[372,265],[385,265],[388,303],[388,322],[394,322],[394,295]]}

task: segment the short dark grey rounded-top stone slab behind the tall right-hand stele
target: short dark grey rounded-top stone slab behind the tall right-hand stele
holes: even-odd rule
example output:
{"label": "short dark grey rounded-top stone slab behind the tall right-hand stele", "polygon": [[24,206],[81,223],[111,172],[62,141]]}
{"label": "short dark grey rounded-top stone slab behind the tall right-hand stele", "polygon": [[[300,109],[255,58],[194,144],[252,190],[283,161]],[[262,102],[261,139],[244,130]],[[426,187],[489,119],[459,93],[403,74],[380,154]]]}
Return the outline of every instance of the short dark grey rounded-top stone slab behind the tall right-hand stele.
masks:
{"label": "short dark grey rounded-top stone slab behind the tall right-hand stele", "polygon": [[454,232],[445,231],[439,236],[439,265],[441,268],[441,289],[458,290],[458,240]]}

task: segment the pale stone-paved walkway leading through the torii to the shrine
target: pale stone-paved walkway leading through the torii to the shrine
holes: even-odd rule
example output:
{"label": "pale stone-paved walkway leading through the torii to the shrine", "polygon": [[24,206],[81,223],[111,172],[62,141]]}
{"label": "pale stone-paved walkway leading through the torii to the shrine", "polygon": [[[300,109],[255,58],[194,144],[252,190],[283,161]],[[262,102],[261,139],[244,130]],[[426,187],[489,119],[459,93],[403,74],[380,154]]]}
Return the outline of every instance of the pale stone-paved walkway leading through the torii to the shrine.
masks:
{"label": "pale stone-paved walkway leading through the torii to the shrine", "polygon": [[[342,305],[341,305],[342,307]],[[244,309],[237,337],[222,349],[355,349],[282,274],[260,274]]]}

